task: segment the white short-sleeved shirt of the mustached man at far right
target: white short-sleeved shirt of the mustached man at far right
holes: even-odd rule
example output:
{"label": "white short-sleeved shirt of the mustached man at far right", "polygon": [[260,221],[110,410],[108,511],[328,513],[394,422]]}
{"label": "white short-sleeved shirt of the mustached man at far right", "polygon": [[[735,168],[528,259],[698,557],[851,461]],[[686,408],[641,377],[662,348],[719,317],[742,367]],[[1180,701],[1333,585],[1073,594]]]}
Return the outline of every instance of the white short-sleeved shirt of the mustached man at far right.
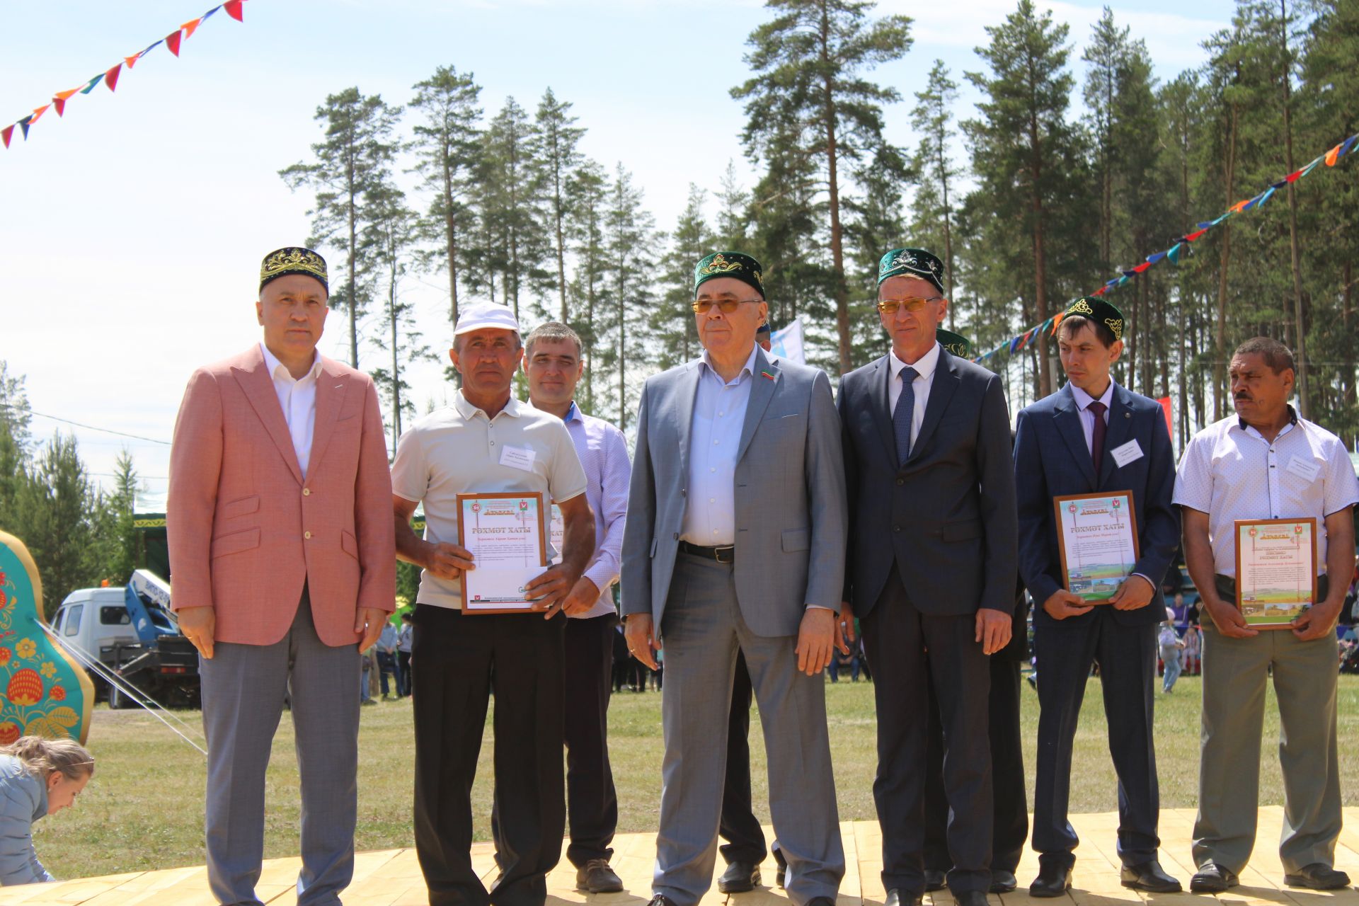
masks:
{"label": "white short-sleeved shirt of the mustached man at far right", "polygon": [[[1208,513],[1214,569],[1237,575],[1237,519],[1317,520],[1317,572],[1326,572],[1326,516],[1359,503],[1359,481],[1340,439],[1288,407],[1291,421],[1265,440],[1239,416],[1208,425],[1185,447],[1171,503]],[[1344,576],[1340,581],[1348,581]]]}

